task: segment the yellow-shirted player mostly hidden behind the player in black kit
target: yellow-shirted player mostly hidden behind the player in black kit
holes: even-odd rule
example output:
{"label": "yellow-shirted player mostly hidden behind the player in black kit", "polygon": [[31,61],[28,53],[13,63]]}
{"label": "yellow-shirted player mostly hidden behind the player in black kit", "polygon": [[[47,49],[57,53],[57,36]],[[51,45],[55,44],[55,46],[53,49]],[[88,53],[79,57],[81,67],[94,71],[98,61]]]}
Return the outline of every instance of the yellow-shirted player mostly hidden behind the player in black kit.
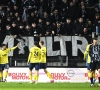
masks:
{"label": "yellow-shirted player mostly hidden behind the player in black kit", "polygon": [[95,72],[93,73],[93,76],[91,76],[91,70],[90,70],[90,63],[91,63],[91,57],[89,55],[89,49],[90,49],[90,46],[92,44],[88,44],[87,47],[86,47],[86,50],[84,52],[84,60],[86,60],[86,66],[87,66],[87,73],[88,73],[88,77],[91,78],[93,77],[94,80],[93,80],[93,83],[95,83],[96,81],[96,74]]}

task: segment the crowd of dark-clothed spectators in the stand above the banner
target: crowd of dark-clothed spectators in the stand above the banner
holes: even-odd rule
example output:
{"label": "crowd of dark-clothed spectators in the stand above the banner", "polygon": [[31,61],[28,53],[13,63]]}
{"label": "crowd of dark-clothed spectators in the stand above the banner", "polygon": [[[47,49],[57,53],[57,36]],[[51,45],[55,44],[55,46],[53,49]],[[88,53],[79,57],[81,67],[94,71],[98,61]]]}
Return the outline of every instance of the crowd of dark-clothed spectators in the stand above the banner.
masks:
{"label": "crowd of dark-clothed spectators in the stand above the banner", "polygon": [[91,36],[99,14],[100,0],[0,0],[0,34]]}

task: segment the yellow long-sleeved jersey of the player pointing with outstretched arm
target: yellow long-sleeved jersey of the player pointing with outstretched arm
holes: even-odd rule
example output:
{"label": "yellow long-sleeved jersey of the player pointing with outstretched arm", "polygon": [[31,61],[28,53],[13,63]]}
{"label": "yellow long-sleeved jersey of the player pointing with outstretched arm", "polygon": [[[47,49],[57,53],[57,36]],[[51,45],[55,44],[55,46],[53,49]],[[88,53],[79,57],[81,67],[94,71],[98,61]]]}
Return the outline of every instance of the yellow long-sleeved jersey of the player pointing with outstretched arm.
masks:
{"label": "yellow long-sleeved jersey of the player pointing with outstretched arm", "polygon": [[0,50],[0,64],[8,63],[8,54],[10,51],[16,49],[17,46],[13,48],[7,48],[6,50]]}

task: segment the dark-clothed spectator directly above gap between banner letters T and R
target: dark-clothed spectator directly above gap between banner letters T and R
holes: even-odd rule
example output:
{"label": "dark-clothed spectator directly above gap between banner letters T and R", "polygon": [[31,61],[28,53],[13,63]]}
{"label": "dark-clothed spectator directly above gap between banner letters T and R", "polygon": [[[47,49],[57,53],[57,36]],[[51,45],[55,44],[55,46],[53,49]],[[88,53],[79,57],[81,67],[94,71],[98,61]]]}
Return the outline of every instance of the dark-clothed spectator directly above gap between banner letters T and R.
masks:
{"label": "dark-clothed spectator directly above gap between banner letters T and R", "polygon": [[66,19],[63,32],[65,32],[65,35],[73,35],[73,24],[70,18]]}

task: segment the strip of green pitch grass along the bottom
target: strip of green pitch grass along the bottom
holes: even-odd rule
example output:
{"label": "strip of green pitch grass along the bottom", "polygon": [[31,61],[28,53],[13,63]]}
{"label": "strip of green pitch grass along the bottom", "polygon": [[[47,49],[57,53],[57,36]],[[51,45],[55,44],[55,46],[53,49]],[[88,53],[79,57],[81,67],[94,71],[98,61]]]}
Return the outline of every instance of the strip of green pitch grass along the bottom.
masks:
{"label": "strip of green pitch grass along the bottom", "polygon": [[89,83],[4,83],[0,82],[0,90],[100,90],[90,87]]}

